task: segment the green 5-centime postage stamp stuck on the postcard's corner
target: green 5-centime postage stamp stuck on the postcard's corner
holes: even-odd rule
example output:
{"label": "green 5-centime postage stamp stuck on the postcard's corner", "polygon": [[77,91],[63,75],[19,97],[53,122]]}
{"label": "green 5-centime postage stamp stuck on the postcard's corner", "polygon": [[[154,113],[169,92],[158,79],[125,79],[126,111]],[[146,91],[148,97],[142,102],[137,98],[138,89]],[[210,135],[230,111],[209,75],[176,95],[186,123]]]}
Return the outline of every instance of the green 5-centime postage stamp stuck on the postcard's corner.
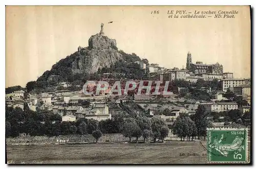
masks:
{"label": "green 5-centime postage stamp stuck on the postcard's corner", "polygon": [[248,163],[248,129],[207,129],[208,163]]}

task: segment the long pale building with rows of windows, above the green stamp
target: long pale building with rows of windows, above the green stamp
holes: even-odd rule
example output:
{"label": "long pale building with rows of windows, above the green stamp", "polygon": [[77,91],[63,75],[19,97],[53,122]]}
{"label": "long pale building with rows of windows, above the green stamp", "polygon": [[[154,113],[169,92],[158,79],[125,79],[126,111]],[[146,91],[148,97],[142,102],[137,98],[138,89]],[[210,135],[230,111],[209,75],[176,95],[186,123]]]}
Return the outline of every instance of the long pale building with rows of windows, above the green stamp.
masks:
{"label": "long pale building with rows of windows, above the green stamp", "polygon": [[233,102],[210,102],[210,103],[201,103],[206,109],[206,111],[212,112],[221,112],[221,111],[228,111],[233,109],[238,109],[238,104]]}

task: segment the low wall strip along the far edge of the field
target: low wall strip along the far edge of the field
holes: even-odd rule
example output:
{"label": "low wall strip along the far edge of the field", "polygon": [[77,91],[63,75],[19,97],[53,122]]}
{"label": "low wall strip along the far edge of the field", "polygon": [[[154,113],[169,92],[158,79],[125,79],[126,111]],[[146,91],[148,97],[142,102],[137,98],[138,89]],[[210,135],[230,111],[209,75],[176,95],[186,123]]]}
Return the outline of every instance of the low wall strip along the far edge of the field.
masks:
{"label": "low wall strip along the far edge of the field", "polygon": [[[136,138],[133,137],[132,140]],[[149,138],[152,139],[152,138]],[[6,138],[7,144],[13,143],[93,143],[96,139],[92,134],[87,135],[62,135],[62,136],[21,136],[21,137],[10,137]],[[126,142],[129,138],[124,137],[122,134],[102,134],[98,142]],[[140,137],[139,141],[143,141]]]}

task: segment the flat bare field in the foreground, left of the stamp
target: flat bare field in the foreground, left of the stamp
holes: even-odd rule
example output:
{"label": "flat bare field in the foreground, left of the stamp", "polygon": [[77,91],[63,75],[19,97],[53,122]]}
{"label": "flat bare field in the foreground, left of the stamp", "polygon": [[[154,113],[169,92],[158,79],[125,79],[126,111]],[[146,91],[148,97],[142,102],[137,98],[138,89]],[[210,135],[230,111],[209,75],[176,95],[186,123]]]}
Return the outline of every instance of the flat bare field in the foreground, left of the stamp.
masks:
{"label": "flat bare field in the foreground, left of the stamp", "polygon": [[26,164],[200,164],[206,163],[205,146],[205,142],[7,146],[7,159]]}

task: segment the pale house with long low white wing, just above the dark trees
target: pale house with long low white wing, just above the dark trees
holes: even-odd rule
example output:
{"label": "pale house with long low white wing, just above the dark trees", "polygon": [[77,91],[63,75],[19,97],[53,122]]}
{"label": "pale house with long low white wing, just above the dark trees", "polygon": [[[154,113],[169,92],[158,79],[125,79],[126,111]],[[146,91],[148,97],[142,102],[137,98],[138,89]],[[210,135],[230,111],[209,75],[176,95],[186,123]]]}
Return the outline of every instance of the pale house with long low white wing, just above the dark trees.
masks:
{"label": "pale house with long low white wing, just above the dark trees", "polygon": [[77,118],[96,119],[98,121],[111,119],[109,107],[106,104],[92,104],[89,108],[80,107],[75,116]]}

